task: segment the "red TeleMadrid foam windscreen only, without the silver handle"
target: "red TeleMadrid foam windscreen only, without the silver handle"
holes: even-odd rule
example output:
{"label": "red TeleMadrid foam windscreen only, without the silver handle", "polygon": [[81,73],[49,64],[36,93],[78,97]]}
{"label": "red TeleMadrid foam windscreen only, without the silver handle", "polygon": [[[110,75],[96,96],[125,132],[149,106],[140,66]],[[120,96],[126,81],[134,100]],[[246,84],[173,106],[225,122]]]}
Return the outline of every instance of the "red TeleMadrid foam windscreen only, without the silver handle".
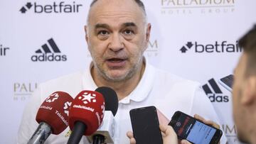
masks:
{"label": "red TeleMadrid foam windscreen only, without the silver handle", "polygon": [[36,121],[47,123],[52,133],[58,135],[68,127],[68,113],[72,101],[73,97],[65,92],[50,94],[38,109]]}

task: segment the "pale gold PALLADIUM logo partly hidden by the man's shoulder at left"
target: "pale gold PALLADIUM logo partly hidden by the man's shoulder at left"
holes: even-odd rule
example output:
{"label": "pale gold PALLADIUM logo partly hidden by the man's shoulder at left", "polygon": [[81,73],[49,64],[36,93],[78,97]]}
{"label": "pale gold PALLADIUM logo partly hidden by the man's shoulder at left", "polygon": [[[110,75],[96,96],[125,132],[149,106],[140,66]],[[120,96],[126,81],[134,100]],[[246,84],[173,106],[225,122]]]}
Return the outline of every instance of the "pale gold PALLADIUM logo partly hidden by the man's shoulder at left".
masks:
{"label": "pale gold PALLADIUM logo partly hidden by the man's shoulder at left", "polygon": [[29,99],[37,87],[38,84],[33,82],[15,82],[14,101]]}

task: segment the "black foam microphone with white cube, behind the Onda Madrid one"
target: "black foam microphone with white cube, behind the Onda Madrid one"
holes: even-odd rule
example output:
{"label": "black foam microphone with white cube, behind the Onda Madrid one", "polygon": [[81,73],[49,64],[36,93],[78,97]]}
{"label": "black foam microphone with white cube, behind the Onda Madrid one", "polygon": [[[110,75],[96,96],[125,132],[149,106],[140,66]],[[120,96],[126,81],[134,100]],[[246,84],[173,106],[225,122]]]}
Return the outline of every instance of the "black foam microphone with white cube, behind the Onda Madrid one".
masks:
{"label": "black foam microphone with white cube, behind the Onda Madrid one", "polygon": [[92,144],[114,143],[114,116],[118,109],[117,93],[110,87],[99,87],[95,91],[104,96],[105,113],[102,126],[93,135],[87,136],[87,139]]}

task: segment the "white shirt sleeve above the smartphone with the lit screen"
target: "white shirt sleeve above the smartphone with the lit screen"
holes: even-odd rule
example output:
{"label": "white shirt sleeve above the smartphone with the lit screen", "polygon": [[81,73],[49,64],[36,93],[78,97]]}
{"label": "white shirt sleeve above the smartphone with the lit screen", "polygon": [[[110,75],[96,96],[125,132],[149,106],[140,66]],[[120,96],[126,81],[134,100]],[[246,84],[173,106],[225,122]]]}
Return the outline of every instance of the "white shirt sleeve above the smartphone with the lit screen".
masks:
{"label": "white shirt sleeve above the smartphone with the lit screen", "polygon": [[[220,125],[220,130],[223,131],[218,115],[215,112],[215,109],[213,107],[213,104],[211,104],[210,99],[208,99],[208,96],[206,96],[206,94],[203,92],[203,89],[201,87],[196,89],[190,114],[191,116],[194,116],[194,114],[198,114],[199,116],[202,116],[206,120],[210,120],[210,121],[214,121],[215,123],[218,123],[218,125]],[[225,133],[223,133],[220,139],[220,143],[221,144],[227,143],[227,138],[225,137]]]}

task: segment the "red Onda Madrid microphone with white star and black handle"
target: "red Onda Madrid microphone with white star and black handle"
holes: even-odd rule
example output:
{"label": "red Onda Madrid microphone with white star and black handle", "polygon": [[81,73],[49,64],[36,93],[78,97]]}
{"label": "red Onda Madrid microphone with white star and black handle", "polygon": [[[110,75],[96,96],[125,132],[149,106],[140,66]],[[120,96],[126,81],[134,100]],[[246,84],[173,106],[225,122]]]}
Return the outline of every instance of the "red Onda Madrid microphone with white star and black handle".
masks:
{"label": "red Onda Madrid microphone with white star and black handle", "polygon": [[68,123],[72,133],[68,144],[79,143],[82,135],[92,135],[100,127],[105,111],[102,94],[82,91],[75,97],[71,106]]}

